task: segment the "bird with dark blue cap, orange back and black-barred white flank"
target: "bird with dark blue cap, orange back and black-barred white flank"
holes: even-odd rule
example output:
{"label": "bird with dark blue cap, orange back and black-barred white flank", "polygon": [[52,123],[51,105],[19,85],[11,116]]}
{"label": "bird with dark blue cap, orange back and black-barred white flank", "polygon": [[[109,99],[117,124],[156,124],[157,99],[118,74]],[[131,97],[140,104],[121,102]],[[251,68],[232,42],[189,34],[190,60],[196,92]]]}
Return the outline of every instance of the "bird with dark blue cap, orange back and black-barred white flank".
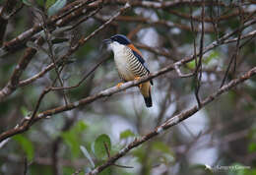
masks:
{"label": "bird with dark blue cap, orange back and black-barred white flank", "polygon": [[[112,50],[117,72],[124,82],[140,80],[142,77],[150,74],[142,53],[125,35],[115,34],[108,39],[104,39],[103,42],[107,45],[108,49]],[[117,87],[120,87],[122,84],[117,84]],[[152,80],[138,86],[147,107],[153,106],[151,95],[152,86]]]}

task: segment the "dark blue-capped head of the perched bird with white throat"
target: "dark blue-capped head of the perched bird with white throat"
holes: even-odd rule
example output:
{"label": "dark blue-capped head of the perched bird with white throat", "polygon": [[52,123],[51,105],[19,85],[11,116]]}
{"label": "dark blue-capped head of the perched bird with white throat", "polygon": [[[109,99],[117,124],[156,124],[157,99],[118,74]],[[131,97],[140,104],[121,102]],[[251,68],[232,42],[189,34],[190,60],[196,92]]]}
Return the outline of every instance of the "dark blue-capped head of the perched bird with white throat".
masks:
{"label": "dark blue-capped head of the perched bird with white throat", "polygon": [[115,34],[108,39],[104,39],[103,42],[113,48],[114,46],[130,45],[131,41],[123,34]]}

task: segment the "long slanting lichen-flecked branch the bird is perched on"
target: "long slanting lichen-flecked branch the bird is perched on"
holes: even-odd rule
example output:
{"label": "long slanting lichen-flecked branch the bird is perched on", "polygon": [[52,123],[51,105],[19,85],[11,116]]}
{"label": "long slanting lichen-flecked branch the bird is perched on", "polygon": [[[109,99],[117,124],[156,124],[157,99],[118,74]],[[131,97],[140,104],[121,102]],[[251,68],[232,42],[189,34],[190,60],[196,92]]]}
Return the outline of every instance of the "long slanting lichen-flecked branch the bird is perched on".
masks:
{"label": "long slanting lichen-flecked branch the bird is perched on", "polygon": [[[230,41],[236,41],[237,40],[237,38],[236,39],[232,38],[232,39],[228,40],[227,38],[230,35],[231,35],[231,33],[227,33],[222,38],[220,38],[218,43],[217,42],[213,42],[212,44],[208,45],[204,49],[203,53],[206,53],[207,51],[217,47],[218,45],[221,45],[221,44],[224,44],[224,43],[229,43]],[[241,36],[240,39],[246,38],[246,37],[250,37],[250,36],[255,36],[255,35],[256,35],[256,30],[251,31],[248,34]],[[225,40],[225,39],[227,39],[227,40]],[[167,72],[169,72],[171,70],[174,70],[175,66],[184,65],[185,63],[188,63],[188,62],[192,61],[193,59],[194,59],[194,54],[190,55],[189,57],[183,58],[182,60],[177,61],[174,64],[170,64],[170,65],[166,66],[165,68],[162,68],[159,72],[152,73],[149,77],[146,77],[146,78],[141,79],[139,81],[128,82],[128,83],[124,84],[120,88],[110,87],[110,88],[107,88],[105,90],[102,90],[102,91],[96,93],[95,95],[83,98],[83,99],[81,99],[79,101],[70,103],[68,105],[56,107],[56,108],[49,109],[49,110],[46,110],[44,112],[41,112],[41,113],[37,114],[34,117],[34,119],[33,119],[31,124],[33,124],[34,122],[36,122],[36,121],[38,121],[38,120],[40,120],[42,118],[45,118],[47,116],[50,116],[50,115],[53,115],[53,114],[57,114],[57,113],[60,113],[60,112],[64,112],[64,111],[67,111],[67,110],[72,110],[72,109],[77,108],[77,107],[79,107],[81,105],[86,105],[86,104],[92,103],[93,101],[95,101],[98,98],[102,98],[104,96],[110,96],[110,95],[112,95],[112,94],[114,94],[116,92],[119,92],[119,91],[124,90],[124,89],[129,88],[129,87],[138,86],[139,84],[141,84],[143,82],[147,82],[148,80],[154,79],[154,78],[156,78],[156,77],[158,77],[158,76],[160,76],[162,74],[165,74],[165,73],[167,73]],[[10,138],[10,137],[12,137],[14,135],[17,135],[19,133],[23,133],[23,132],[25,132],[28,129],[29,128],[27,128],[26,126],[22,125],[22,126],[18,126],[18,127],[13,128],[13,129],[10,129],[10,130],[8,130],[6,132],[3,132],[0,135],[0,142],[2,142],[5,139]]]}

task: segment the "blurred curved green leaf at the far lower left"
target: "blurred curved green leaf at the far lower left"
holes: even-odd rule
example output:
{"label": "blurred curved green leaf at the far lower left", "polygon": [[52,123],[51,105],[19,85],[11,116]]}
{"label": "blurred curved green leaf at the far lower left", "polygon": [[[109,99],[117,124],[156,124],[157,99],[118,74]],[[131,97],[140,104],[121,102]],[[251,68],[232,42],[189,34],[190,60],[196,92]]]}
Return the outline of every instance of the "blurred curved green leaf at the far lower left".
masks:
{"label": "blurred curved green leaf at the far lower left", "polygon": [[32,158],[34,155],[34,148],[33,148],[32,142],[23,135],[14,136],[13,140],[18,142],[20,146],[22,146],[22,149],[26,152],[29,161],[32,161]]}

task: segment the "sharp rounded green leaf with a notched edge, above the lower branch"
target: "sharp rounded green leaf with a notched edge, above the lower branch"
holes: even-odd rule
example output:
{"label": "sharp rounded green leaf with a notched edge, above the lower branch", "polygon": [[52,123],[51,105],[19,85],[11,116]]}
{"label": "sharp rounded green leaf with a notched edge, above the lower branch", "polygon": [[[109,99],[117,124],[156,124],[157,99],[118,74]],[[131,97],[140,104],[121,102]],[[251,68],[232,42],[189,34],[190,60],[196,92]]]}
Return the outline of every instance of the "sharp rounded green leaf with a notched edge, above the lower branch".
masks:
{"label": "sharp rounded green leaf with a notched edge, above the lower branch", "polygon": [[110,138],[107,135],[102,134],[96,138],[96,141],[94,143],[94,151],[98,159],[102,159],[107,156],[104,145],[108,147],[109,151],[111,150]]}

